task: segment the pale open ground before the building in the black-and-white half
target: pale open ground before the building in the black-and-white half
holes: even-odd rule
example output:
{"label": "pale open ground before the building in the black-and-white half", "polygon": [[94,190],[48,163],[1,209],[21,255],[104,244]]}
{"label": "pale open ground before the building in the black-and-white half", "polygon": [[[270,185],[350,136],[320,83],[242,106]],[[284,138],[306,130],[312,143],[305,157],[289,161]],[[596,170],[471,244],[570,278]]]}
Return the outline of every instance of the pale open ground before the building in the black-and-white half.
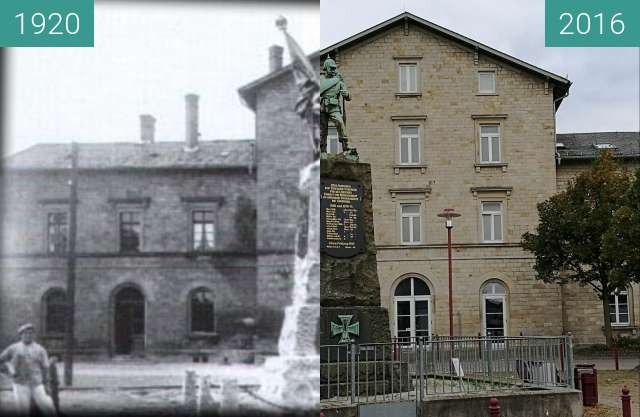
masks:
{"label": "pale open ground before the building in the black-and-white half", "polygon": [[[59,365],[62,371],[62,366]],[[108,411],[110,415],[133,412],[151,413],[158,417],[174,416],[184,412],[182,384],[187,370],[198,375],[209,375],[214,384],[212,395],[220,403],[221,390],[216,389],[225,379],[237,379],[247,385],[238,393],[238,403],[245,410],[272,409],[250,393],[250,387],[264,378],[262,368],[254,365],[224,366],[202,363],[154,363],[154,362],[103,362],[77,363],[74,368],[74,385],[61,386],[60,408],[70,415],[92,415],[96,411]],[[62,378],[62,372],[59,372]],[[0,377],[0,415],[12,410],[13,395],[10,382]],[[219,385],[218,385],[219,386]],[[249,411],[243,412],[247,415]]]}

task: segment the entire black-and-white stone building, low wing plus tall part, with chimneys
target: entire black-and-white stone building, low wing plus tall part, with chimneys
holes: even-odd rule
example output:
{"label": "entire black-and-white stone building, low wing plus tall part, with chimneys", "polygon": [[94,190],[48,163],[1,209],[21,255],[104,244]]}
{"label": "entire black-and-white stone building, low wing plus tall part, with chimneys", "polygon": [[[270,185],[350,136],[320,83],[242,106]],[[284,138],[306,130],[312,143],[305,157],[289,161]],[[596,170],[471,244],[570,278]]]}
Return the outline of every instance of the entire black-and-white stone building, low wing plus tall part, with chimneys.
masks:
{"label": "entire black-and-white stone building, low wing plus tall part, with chimneys", "polygon": [[[81,354],[233,361],[250,347],[276,351],[299,170],[312,149],[283,48],[270,51],[269,73],[239,91],[257,140],[199,140],[198,97],[188,95],[184,141],[156,141],[155,119],[143,115],[138,142],[77,145]],[[25,320],[54,352],[64,346],[71,155],[70,143],[42,144],[3,161],[3,346]]]}

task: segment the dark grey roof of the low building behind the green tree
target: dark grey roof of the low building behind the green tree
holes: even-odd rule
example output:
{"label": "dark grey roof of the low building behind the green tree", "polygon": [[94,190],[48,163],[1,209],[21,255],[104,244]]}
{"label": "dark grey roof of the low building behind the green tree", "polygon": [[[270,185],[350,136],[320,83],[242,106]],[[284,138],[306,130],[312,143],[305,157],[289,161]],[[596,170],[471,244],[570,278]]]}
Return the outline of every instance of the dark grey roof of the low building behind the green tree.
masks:
{"label": "dark grey roof of the low building behind the green tree", "polygon": [[640,158],[640,132],[558,133],[556,135],[556,151],[560,159],[594,159],[598,152],[604,149],[611,149],[617,157]]}

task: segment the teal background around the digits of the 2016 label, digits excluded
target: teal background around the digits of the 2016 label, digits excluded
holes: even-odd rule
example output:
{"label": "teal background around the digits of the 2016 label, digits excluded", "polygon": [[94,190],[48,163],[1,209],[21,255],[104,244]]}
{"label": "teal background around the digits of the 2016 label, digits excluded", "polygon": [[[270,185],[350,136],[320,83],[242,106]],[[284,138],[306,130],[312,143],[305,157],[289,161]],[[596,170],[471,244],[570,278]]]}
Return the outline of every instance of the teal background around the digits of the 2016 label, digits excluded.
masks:
{"label": "teal background around the digits of the 2016 label, digits excluded", "polygon": [[[566,29],[573,35],[561,35],[568,18],[560,20],[563,13],[571,13],[573,21]],[[576,28],[580,13],[586,13],[591,19],[591,30],[580,34]],[[600,18],[602,13],[602,34]],[[616,35],[611,31],[611,18],[622,13],[616,19],[624,21],[624,32]],[[640,46],[640,0],[545,0],[545,46]],[[586,19],[582,18],[582,30],[586,29]],[[619,30],[619,26],[615,26]]]}

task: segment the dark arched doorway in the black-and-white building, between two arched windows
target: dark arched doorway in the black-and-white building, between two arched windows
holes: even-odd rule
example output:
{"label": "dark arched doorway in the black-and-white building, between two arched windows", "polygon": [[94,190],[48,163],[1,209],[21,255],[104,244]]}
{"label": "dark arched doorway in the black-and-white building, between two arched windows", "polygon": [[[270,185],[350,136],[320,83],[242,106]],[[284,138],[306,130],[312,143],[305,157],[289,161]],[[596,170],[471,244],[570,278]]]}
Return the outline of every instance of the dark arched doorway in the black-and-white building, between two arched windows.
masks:
{"label": "dark arched doorway in the black-and-white building, between two arched windows", "polygon": [[144,295],[135,287],[124,287],[114,297],[113,344],[116,355],[144,350]]}

